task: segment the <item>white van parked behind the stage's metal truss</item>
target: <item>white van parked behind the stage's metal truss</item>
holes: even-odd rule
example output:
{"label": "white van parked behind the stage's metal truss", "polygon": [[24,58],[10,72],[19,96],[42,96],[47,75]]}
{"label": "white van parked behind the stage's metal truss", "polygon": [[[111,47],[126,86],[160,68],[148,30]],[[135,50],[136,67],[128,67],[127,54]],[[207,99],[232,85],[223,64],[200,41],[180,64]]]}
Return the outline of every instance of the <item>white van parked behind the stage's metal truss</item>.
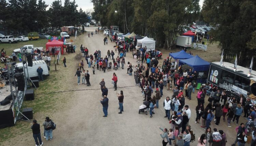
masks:
{"label": "white van parked behind the stage's metal truss", "polygon": [[[23,71],[23,63],[17,63],[17,68],[19,71]],[[44,76],[49,76],[49,66],[46,64],[46,62],[44,60],[37,60],[37,61],[33,61],[33,66],[32,67],[28,67],[28,75],[30,78],[37,78],[38,79],[38,73],[37,73],[37,69],[38,67],[41,66],[41,68],[43,69],[43,77]],[[27,76],[27,68],[26,68],[26,64],[24,64],[25,67],[25,72],[26,72],[26,76]]]}

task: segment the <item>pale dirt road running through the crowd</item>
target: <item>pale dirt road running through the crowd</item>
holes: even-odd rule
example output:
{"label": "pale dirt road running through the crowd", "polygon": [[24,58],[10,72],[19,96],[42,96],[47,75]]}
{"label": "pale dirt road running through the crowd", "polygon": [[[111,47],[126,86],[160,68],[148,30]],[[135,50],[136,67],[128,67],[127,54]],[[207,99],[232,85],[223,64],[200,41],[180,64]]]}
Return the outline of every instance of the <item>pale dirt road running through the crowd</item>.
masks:
{"label": "pale dirt road running through the crowd", "polygon": [[[93,27],[86,28],[86,31],[93,31]],[[89,54],[93,54],[95,50],[101,50],[102,57],[106,55],[108,50],[114,50],[114,43],[109,40],[108,45],[103,44],[104,35],[94,34],[93,37],[87,36],[87,33],[80,35],[76,38],[75,44],[77,44],[76,53],[80,52],[79,46],[83,44],[89,49]],[[155,114],[152,118],[149,115],[143,113],[138,114],[139,106],[143,103],[143,98],[140,96],[141,90],[138,86],[135,86],[133,76],[126,74],[126,67],[124,70],[119,68],[117,71],[113,69],[110,72],[103,73],[96,70],[96,74],[93,75],[92,69],[86,65],[85,70],[89,70],[91,86],[77,85],[77,77],[74,76],[76,68],[78,68],[78,61],[75,60],[75,54],[67,56],[67,68],[61,68],[62,74],[65,74],[60,79],[63,83],[63,87],[71,89],[90,89],[85,91],[74,91],[71,94],[63,94],[62,96],[68,96],[68,104],[53,113],[50,118],[57,124],[56,130],[53,131],[53,140],[45,141],[44,146],[160,146],[162,145],[162,139],[160,133],[162,132],[158,127],[170,128],[169,121],[165,116],[165,110],[162,103],[166,96],[171,96],[172,92],[163,90],[163,98],[159,101],[159,109],[155,109]],[[194,54],[196,55],[196,54]],[[64,55],[65,56],[65,55]],[[167,56],[167,55],[166,55]],[[117,53],[114,56],[117,57]],[[126,62],[130,61],[135,64],[131,52],[127,53]],[[85,60],[85,59],[84,59]],[[118,77],[117,92],[114,91],[111,84],[112,74],[115,72]],[[100,104],[101,90],[100,81],[104,78],[106,87],[109,89],[109,108],[108,117],[102,117],[102,105]],[[117,93],[120,90],[124,92],[124,112],[118,114],[118,99]],[[63,97],[63,98],[64,98]],[[65,97],[67,98],[67,97]],[[192,114],[189,124],[192,130],[196,134],[196,139],[204,133],[204,130],[200,128],[201,124],[195,124],[196,112],[195,107],[197,104],[196,94],[192,95],[192,100],[186,104],[189,105]],[[61,99],[60,99],[61,100]],[[40,123],[47,113],[43,113],[40,118]],[[240,122],[244,122],[240,118]],[[201,121],[200,121],[201,122]],[[232,127],[227,127],[227,123],[221,120],[221,124],[216,126],[213,122],[212,129],[222,129],[227,135],[227,145],[231,145],[235,139],[236,125],[232,124]],[[41,135],[43,133],[43,127],[41,127]],[[18,144],[13,143],[10,139],[5,145],[34,145],[32,137],[32,131],[20,135],[19,138],[26,136],[26,139],[20,140]],[[42,136],[43,138],[43,136]],[[17,139],[16,139],[17,140]],[[190,146],[196,146],[197,142],[190,143]]]}

